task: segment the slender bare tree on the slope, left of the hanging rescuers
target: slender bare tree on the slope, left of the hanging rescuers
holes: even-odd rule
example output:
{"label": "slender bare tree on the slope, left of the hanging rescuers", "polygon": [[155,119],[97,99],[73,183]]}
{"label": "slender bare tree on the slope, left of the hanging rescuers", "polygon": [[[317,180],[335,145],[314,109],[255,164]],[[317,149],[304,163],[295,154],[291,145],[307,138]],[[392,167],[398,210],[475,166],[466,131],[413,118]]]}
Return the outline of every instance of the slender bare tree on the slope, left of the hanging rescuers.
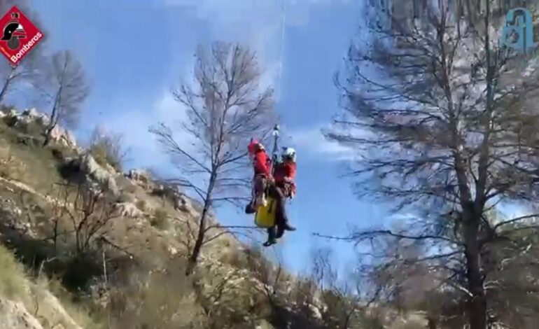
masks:
{"label": "slender bare tree on the slope, left of the hanging rescuers", "polygon": [[[259,91],[254,52],[217,42],[209,51],[199,48],[195,57],[195,86],[183,84],[173,91],[179,111],[188,114],[181,125],[187,137],[177,139],[165,123],[150,129],[183,174],[170,181],[192,190],[202,202],[188,275],[210,229],[210,209],[221,202],[238,205],[248,200],[251,172],[245,145],[251,137],[267,134],[274,124],[273,91],[269,87]],[[186,145],[186,139],[192,144]]]}

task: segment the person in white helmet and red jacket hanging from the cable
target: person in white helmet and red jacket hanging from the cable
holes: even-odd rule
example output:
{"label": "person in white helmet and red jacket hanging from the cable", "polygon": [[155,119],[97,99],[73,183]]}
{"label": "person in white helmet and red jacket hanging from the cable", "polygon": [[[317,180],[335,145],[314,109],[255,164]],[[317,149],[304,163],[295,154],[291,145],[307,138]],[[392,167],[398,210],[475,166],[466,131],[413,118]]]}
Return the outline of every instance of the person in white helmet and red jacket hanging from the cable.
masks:
{"label": "person in white helmet and red jacket hanging from the cable", "polygon": [[284,231],[295,231],[288,223],[286,215],[286,198],[293,198],[296,192],[295,173],[297,166],[295,163],[296,154],[293,148],[283,148],[282,162],[275,164],[273,181],[269,185],[269,195],[276,200],[275,226],[267,230],[267,241],[264,246],[271,246],[276,243],[276,239],[283,236]]}

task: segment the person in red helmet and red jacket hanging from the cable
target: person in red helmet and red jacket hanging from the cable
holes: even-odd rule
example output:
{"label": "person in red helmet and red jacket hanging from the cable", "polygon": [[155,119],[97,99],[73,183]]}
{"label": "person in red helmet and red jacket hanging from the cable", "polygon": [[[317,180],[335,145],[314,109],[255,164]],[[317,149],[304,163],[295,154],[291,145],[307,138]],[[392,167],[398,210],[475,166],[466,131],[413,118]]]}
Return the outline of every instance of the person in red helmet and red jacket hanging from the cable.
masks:
{"label": "person in red helmet and red jacket hanging from the cable", "polygon": [[249,158],[253,162],[253,200],[245,208],[246,214],[254,214],[256,209],[266,204],[265,189],[267,179],[271,176],[269,172],[269,157],[264,146],[258,141],[251,141],[247,146]]}

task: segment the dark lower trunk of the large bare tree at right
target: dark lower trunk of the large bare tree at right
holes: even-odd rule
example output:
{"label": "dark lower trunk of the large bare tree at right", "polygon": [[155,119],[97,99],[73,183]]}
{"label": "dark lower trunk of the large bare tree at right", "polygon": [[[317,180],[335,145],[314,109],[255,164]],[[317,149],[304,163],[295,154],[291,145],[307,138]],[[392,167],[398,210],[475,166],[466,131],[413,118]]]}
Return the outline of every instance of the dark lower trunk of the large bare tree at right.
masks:
{"label": "dark lower trunk of the large bare tree at right", "polygon": [[468,290],[471,296],[468,300],[468,321],[470,329],[486,329],[486,296],[483,287],[483,274],[481,266],[481,255],[479,241],[479,216],[470,214],[467,211],[464,217],[464,242],[466,257],[466,276],[468,279]]}

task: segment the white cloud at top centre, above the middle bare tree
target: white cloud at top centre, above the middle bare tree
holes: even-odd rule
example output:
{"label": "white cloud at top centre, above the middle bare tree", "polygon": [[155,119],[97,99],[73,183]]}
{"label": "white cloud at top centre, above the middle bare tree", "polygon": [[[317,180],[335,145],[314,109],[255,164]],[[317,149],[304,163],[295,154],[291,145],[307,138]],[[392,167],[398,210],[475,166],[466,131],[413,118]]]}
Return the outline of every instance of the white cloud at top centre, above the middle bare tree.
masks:
{"label": "white cloud at top centre, above the middle bare tree", "polygon": [[[249,45],[260,59],[262,85],[274,85],[279,98],[286,28],[309,22],[314,6],[351,0],[162,0],[165,6],[190,8],[209,27],[211,38]],[[284,34],[283,34],[284,29]],[[285,63],[286,64],[286,63]]]}

